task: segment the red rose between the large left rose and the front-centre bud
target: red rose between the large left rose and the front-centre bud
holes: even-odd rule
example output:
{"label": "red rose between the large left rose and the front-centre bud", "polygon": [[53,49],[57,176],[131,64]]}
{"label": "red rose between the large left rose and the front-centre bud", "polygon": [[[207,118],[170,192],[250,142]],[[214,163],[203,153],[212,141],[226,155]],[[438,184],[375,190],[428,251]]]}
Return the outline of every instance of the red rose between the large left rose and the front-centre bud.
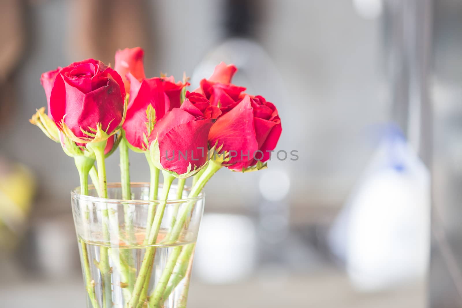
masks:
{"label": "red rose between the large left rose and the front-centre bud", "polygon": [[[128,143],[141,151],[147,150],[147,137],[152,129],[152,120],[161,119],[166,112],[180,107],[180,94],[184,86],[170,78],[150,78],[138,81],[132,74],[127,75],[131,82],[127,116],[122,128]],[[155,119],[148,119],[148,107],[155,110]],[[146,113],[148,111],[148,113]],[[150,128],[151,127],[151,128]]]}

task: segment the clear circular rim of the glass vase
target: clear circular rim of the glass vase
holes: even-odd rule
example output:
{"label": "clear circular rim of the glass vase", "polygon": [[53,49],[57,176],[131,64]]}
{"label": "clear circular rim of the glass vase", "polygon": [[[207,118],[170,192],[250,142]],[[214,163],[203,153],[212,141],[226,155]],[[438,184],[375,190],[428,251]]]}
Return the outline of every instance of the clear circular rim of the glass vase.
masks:
{"label": "clear circular rim of the glass vase", "polygon": [[[130,187],[150,187],[151,184],[149,182],[130,182]],[[111,182],[107,183],[108,188],[122,188],[121,182]],[[159,188],[164,187],[164,183],[158,184]],[[171,187],[177,187],[176,184],[172,184]],[[192,187],[185,186],[183,188],[184,191],[191,191]],[[93,184],[88,185],[88,190],[96,190]],[[94,197],[83,195],[80,193],[80,186],[75,187],[71,190],[71,198],[77,198],[79,200],[90,201],[90,202],[101,202],[101,203],[114,203],[114,204],[131,204],[131,205],[148,205],[152,203],[161,203],[164,202],[162,200],[124,200],[124,199],[111,199],[111,198],[101,198],[101,197]],[[192,198],[184,198],[184,199],[167,199],[167,204],[177,204],[177,203],[185,203],[185,202],[197,202],[201,199],[205,198],[204,190],[201,190],[197,197]]]}

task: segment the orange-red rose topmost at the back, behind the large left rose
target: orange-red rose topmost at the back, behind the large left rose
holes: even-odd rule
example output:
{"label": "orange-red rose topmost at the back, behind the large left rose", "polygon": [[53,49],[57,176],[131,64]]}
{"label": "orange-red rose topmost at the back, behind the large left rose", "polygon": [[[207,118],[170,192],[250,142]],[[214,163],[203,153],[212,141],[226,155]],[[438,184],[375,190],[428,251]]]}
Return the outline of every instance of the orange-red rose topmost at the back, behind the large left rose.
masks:
{"label": "orange-red rose topmost at the back, behind the large left rose", "polygon": [[122,77],[127,93],[130,93],[130,80],[127,77],[128,73],[131,73],[138,81],[146,78],[143,57],[144,50],[140,47],[125,48],[116,51],[116,64],[114,69]]}

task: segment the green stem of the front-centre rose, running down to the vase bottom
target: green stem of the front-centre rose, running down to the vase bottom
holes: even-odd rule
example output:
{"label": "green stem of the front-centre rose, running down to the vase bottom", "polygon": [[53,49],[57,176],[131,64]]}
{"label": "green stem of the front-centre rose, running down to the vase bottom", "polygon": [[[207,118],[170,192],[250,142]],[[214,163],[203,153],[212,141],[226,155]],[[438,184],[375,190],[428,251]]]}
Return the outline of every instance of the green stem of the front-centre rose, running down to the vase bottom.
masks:
{"label": "green stem of the front-centre rose, running down to the vase bottom", "polygon": [[[157,242],[157,237],[160,229],[160,223],[162,222],[162,217],[164,217],[165,205],[167,204],[167,199],[169,196],[170,186],[175,179],[173,175],[166,171],[162,171],[164,175],[164,187],[162,188],[161,203],[158,205],[154,220],[152,223],[152,228],[149,233],[147,245],[155,245]],[[149,273],[149,267],[152,266],[152,261],[154,259],[154,254],[156,252],[155,246],[150,246],[146,248],[145,255],[143,257],[143,262],[141,264],[140,272],[138,278],[136,278],[134,290],[130,302],[128,302],[128,308],[136,308],[140,301],[140,295],[142,289],[146,284],[146,280],[149,280],[147,277]],[[141,299],[143,300],[143,299]]]}

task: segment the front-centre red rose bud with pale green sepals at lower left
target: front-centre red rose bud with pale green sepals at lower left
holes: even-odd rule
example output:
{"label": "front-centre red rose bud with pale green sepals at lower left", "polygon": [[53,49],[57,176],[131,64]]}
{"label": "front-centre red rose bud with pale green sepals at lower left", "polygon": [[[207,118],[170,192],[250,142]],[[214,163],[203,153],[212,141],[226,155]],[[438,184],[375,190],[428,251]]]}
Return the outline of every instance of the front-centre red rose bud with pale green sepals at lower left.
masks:
{"label": "front-centre red rose bud with pale green sepals at lower left", "polygon": [[158,121],[149,137],[152,161],[178,178],[199,171],[208,158],[207,136],[220,110],[199,93],[187,93],[180,108]]}

